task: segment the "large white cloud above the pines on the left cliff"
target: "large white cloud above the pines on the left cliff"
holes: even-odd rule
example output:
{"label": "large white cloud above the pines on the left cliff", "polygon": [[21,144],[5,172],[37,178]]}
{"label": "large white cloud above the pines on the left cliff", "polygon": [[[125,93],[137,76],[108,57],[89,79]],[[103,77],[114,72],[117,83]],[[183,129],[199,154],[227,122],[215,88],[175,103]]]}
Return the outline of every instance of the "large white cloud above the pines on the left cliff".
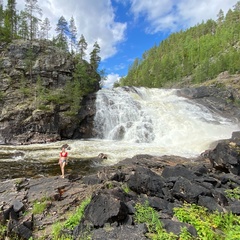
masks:
{"label": "large white cloud above the pines on the left cliff", "polygon": [[[7,0],[4,0],[6,5]],[[125,40],[127,23],[115,21],[114,9],[110,0],[44,0],[38,1],[42,9],[42,19],[51,22],[51,37],[56,35],[56,24],[61,16],[69,22],[75,19],[78,37],[84,35],[89,52],[93,44],[98,41],[102,60],[113,56],[117,52],[117,45]],[[17,1],[17,9],[24,9],[25,1]]]}

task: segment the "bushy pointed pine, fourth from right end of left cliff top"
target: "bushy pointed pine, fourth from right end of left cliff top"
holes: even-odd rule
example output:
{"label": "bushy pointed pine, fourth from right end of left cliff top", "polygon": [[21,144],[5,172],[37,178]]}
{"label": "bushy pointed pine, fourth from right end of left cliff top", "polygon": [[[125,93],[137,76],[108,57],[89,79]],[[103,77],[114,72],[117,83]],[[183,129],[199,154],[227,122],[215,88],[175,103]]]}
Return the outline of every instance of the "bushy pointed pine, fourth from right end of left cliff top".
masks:
{"label": "bushy pointed pine, fourth from right end of left cliff top", "polygon": [[55,39],[56,45],[63,50],[68,50],[67,36],[69,34],[68,23],[66,19],[61,16],[57,23],[56,32],[58,33]]}

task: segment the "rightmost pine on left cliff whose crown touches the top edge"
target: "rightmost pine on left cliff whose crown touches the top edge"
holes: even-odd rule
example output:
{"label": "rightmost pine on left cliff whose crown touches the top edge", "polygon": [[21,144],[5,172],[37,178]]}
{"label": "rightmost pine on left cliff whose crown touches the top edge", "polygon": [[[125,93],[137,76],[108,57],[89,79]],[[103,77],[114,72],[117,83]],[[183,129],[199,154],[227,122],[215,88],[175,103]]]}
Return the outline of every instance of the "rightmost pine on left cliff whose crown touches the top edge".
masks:
{"label": "rightmost pine on left cliff whose crown touches the top edge", "polygon": [[42,9],[38,6],[37,0],[25,0],[25,12],[28,18],[30,40],[37,37],[38,24],[41,21],[37,16],[42,16]]}

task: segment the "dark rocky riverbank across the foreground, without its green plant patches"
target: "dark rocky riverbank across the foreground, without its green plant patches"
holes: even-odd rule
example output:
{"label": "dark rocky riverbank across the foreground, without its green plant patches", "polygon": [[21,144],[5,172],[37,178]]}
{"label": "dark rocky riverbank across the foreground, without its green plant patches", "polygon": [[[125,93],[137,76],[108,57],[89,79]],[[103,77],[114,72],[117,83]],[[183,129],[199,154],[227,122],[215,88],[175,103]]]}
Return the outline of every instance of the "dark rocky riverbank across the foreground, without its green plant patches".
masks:
{"label": "dark rocky riverbank across the foreground, without its green plant patches", "polygon": [[[240,201],[226,194],[239,187],[240,132],[195,159],[138,155],[89,176],[12,179],[0,186],[0,221],[7,226],[1,239],[53,239],[53,225],[66,221],[87,198],[91,201],[82,220],[71,230],[62,227],[62,234],[73,239],[86,234],[88,239],[147,239],[146,226],[134,218],[136,204],[147,201],[167,232],[178,235],[185,226],[196,237],[196,229],[177,221],[173,209],[187,202],[240,215]],[[44,207],[37,211],[40,205]]]}

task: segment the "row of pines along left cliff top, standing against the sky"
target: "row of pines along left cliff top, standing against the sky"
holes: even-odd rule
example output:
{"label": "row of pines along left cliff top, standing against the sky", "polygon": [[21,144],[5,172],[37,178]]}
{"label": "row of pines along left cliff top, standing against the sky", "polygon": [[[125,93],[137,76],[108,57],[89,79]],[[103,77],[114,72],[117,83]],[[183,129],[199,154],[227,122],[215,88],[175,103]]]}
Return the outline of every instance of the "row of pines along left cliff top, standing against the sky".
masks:
{"label": "row of pines along left cliff top, standing against the sky", "polygon": [[[38,5],[38,0],[25,0],[25,8],[16,10],[16,0],[8,0],[5,8],[3,0],[0,0],[0,43],[9,43],[14,39],[39,40],[49,39],[51,23],[46,17],[42,17],[42,9]],[[64,16],[61,16],[56,25],[56,36],[51,40],[51,44],[77,54],[80,60],[86,57],[88,44],[85,37],[81,34],[77,39],[77,27],[74,17],[69,23]],[[69,49],[70,48],[70,49]],[[100,46],[97,42],[93,45],[90,53],[90,64],[94,70],[98,69],[101,58],[99,56]]]}

